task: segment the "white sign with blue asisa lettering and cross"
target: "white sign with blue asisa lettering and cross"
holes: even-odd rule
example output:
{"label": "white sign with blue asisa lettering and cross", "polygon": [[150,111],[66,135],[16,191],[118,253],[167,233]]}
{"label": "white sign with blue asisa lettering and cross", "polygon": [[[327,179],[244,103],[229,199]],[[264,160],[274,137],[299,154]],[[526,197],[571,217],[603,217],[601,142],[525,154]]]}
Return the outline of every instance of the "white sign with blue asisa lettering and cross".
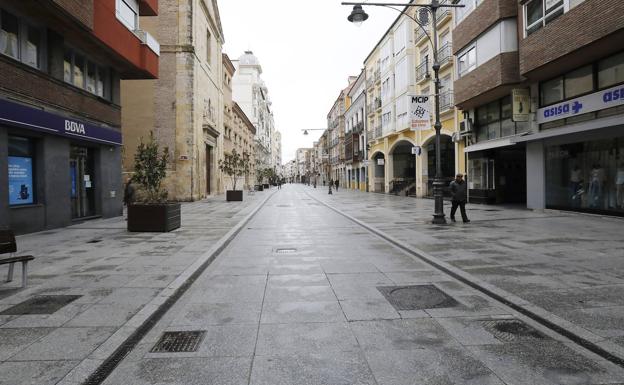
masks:
{"label": "white sign with blue asisa lettering and cross", "polygon": [[621,105],[624,105],[624,86],[620,85],[581,96],[580,98],[540,108],[537,111],[537,123],[547,123],[553,120],[569,118],[571,116]]}

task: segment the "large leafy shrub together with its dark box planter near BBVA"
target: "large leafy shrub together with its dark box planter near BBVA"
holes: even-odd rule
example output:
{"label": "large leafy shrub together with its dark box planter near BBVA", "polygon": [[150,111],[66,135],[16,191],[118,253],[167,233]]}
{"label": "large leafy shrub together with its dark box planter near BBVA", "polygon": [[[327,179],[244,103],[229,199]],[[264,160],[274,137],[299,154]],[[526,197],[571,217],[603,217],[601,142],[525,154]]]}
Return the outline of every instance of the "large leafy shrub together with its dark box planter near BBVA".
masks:
{"label": "large leafy shrub together with its dark box planter near BBVA", "polygon": [[165,147],[159,155],[153,132],[147,143],[141,140],[134,156],[131,183],[136,195],[128,203],[128,231],[168,232],[180,227],[180,203],[167,202],[167,191],[162,188],[168,161],[169,149]]}

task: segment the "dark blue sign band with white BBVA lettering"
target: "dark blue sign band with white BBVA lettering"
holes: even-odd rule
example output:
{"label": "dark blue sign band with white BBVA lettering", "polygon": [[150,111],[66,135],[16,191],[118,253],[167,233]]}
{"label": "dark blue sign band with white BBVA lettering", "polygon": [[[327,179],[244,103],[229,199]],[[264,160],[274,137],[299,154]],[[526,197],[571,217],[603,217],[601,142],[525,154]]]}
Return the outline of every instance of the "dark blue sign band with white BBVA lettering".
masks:
{"label": "dark blue sign band with white BBVA lettering", "polygon": [[98,126],[19,103],[0,99],[0,123],[27,128],[29,130],[80,138],[91,142],[121,145],[121,132]]}

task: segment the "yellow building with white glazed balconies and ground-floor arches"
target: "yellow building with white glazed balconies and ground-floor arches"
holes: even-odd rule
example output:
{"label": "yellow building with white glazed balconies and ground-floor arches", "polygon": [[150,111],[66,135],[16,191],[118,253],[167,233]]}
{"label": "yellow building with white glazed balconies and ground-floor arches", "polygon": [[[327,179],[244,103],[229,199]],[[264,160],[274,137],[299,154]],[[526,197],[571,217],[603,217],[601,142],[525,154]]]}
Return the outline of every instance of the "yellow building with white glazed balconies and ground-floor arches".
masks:
{"label": "yellow building with white glazed balconies and ground-floor arches", "polygon": [[[421,2],[413,1],[414,4]],[[410,15],[417,8],[406,10]],[[465,172],[463,144],[454,135],[459,117],[453,103],[455,79],[452,55],[451,10],[438,11],[438,61],[440,69],[440,121],[442,176],[447,183],[457,172]],[[431,22],[424,29],[432,36]],[[435,176],[435,130],[433,46],[423,28],[400,15],[365,60],[370,191],[433,195]],[[412,131],[409,121],[411,95],[429,95],[431,128]],[[412,149],[420,148],[420,155]]]}

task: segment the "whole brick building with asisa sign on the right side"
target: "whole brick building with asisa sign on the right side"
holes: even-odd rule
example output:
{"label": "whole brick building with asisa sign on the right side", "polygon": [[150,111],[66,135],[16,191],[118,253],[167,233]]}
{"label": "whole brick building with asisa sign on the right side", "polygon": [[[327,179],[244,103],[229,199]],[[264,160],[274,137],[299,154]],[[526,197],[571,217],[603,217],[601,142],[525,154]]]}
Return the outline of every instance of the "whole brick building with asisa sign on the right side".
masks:
{"label": "whole brick building with asisa sign on the right side", "polygon": [[624,215],[624,5],[469,4],[454,36],[470,199]]}

